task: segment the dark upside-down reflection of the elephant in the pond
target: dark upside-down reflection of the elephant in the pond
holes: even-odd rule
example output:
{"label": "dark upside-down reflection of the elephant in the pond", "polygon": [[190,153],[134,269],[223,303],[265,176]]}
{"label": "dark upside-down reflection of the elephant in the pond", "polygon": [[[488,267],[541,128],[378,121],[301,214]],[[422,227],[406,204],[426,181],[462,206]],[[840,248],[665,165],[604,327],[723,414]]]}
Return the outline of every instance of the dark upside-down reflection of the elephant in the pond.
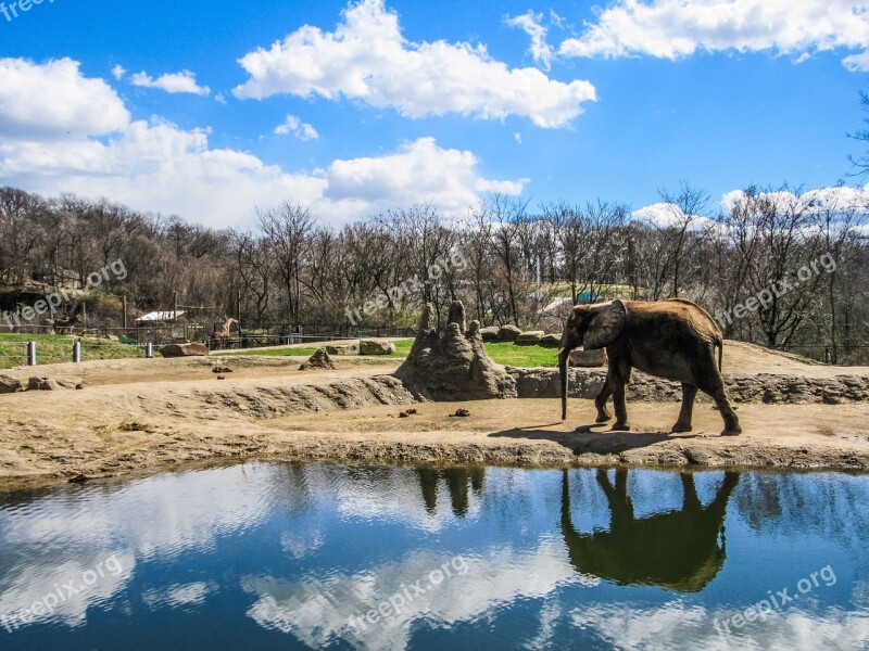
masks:
{"label": "dark upside-down reflection of the elephant in the pond", "polygon": [[562,534],[577,572],[619,585],[655,585],[680,592],[702,590],[725,563],[725,515],[739,475],[725,473],[708,507],[697,498],[694,477],[682,473],[681,478],[684,505],[680,511],[638,519],[628,496],[628,471],[617,470],[613,485],[607,472],[599,470],[597,483],[609,502],[609,531],[580,534],[570,516],[570,485],[565,470]]}

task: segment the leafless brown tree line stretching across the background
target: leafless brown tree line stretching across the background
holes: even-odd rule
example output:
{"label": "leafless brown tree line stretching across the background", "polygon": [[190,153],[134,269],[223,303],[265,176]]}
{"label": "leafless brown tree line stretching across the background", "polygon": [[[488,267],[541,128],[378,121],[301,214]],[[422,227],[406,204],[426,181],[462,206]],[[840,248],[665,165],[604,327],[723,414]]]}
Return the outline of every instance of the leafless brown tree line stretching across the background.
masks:
{"label": "leafless brown tree line stretching across the background", "polygon": [[126,279],[88,308],[106,326],[119,324],[126,295],[139,312],[177,302],[287,331],[408,327],[421,304],[442,312],[453,299],[483,326],[557,330],[574,302],[684,297],[729,339],[857,362],[869,358],[868,210],[846,187],[753,187],[716,206],[681,186],[638,213],[492,194],[462,219],[418,204],[336,227],[285,202],[249,228],[213,229],[2,188],[0,284],[84,285],[123,259]]}

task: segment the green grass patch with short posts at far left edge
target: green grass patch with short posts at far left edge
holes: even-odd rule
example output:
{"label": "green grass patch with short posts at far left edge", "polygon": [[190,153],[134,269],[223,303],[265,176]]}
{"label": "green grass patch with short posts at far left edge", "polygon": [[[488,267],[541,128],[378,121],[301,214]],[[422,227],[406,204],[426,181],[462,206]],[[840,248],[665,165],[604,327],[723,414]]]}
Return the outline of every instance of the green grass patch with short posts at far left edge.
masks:
{"label": "green grass patch with short posts at far left edge", "polygon": [[[36,342],[38,363],[58,363],[73,360],[73,342],[77,336],[54,334],[0,334],[0,369],[27,365],[27,342]],[[98,339],[81,339],[81,361],[93,359],[125,359],[144,357],[135,346]]]}

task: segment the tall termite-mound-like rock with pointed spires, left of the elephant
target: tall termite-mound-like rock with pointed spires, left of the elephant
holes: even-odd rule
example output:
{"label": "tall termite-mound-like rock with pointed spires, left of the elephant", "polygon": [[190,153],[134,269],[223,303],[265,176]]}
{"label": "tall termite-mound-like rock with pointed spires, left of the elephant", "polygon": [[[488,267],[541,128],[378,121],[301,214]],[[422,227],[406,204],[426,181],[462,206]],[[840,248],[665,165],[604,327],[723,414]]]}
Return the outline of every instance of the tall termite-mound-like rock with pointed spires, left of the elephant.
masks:
{"label": "tall termite-mound-like rock with pointed spires, left of the elephant", "polygon": [[463,331],[465,308],[450,306],[442,334],[434,326],[431,304],[423,308],[419,330],[407,359],[395,376],[417,397],[429,400],[484,400],[516,396],[516,383],[504,367],[486,354],[480,324]]}

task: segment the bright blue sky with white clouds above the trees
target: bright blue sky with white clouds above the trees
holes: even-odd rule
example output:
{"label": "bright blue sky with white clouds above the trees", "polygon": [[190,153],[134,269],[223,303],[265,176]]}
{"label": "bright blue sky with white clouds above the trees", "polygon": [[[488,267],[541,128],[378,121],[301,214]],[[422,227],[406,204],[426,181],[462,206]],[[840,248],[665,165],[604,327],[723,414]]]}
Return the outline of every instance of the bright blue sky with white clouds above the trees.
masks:
{"label": "bright blue sky with white clouds above the trees", "polygon": [[0,183],[213,226],[284,199],[340,224],[491,190],[816,189],[862,151],[867,0],[14,7]]}

